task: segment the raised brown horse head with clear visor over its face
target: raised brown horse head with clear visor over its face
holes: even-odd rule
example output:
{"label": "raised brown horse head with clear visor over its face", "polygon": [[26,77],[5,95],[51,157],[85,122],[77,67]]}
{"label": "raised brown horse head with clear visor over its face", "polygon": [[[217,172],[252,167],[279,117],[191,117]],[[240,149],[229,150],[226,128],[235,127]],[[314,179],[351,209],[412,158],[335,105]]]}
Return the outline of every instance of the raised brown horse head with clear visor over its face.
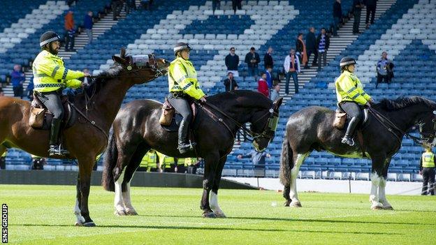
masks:
{"label": "raised brown horse head with clear visor over its face", "polygon": [[157,58],[154,54],[126,55],[126,50],[121,49],[119,56],[112,56],[115,64],[119,64],[122,70],[120,77],[130,79],[133,84],[150,82],[161,75],[166,75],[170,62]]}

